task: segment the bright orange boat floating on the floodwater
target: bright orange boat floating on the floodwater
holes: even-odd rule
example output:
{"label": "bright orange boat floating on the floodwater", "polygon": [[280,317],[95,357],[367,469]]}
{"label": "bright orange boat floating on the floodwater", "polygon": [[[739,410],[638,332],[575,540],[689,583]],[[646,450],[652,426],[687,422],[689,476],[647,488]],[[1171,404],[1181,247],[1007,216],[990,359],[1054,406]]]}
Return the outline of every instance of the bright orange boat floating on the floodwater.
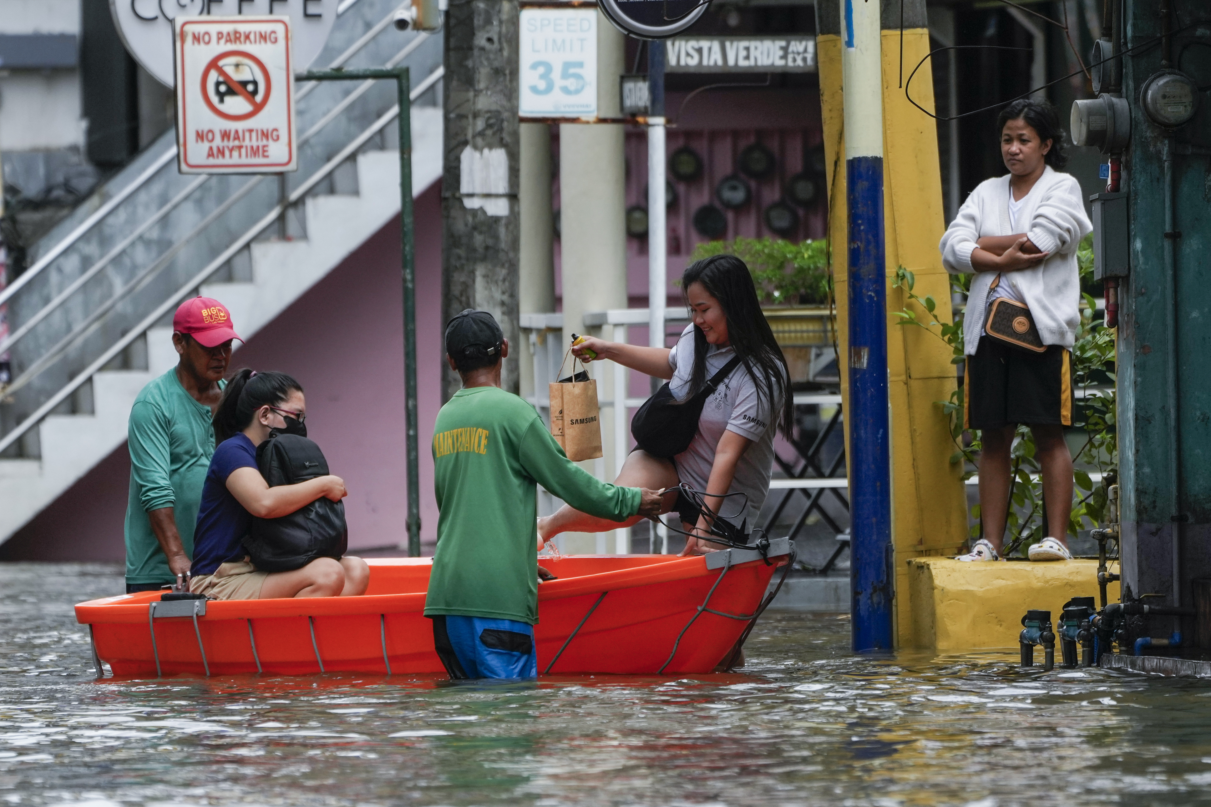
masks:
{"label": "bright orange boat floating on the floodwater", "polygon": [[[119,678],[444,673],[424,616],[430,558],[372,559],[362,596],[161,600],[122,594],[75,606]],[[558,580],[538,590],[534,635],[546,674],[708,673],[773,599],[787,538],[702,557],[543,558]],[[785,571],[782,577],[785,578]]]}

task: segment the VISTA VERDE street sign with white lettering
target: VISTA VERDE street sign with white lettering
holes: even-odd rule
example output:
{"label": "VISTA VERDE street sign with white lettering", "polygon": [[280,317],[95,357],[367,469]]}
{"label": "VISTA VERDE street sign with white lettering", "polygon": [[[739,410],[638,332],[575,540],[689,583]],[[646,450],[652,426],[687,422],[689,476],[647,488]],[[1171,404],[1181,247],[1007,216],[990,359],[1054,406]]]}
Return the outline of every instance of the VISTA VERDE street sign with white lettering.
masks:
{"label": "VISTA VERDE street sign with white lettering", "polygon": [[814,36],[678,36],[665,41],[668,73],[815,73]]}

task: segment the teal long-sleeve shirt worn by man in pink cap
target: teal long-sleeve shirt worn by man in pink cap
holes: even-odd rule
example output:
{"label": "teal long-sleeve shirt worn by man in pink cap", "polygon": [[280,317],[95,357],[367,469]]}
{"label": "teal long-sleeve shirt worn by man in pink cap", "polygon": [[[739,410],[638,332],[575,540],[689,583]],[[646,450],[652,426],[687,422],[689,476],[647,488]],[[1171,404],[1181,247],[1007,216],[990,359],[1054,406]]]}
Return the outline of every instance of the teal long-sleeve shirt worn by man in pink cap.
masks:
{"label": "teal long-sleeve shirt worn by man in pink cap", "polygon": [[214,454],[211,408],[185,392],[172,368],[139,392],[126,436],[131,451],[126,582],[171,583],[168,559],[151,531],[148,511],[173,508],[180,543],[193,558],[197,506]]}

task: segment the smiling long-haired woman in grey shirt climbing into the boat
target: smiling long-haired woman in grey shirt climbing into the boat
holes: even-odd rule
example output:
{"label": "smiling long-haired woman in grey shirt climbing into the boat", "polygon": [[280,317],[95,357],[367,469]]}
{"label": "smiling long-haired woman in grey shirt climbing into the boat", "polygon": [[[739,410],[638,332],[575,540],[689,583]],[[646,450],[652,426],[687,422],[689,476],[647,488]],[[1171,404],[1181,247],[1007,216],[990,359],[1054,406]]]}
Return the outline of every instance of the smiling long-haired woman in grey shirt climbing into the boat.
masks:
{"label": "smiling long-haired woman in grey shirt climbing into the boat", "polygon": [[[748,528],[754,526],[769,494],[774,432],[791,433],[793,404],[786,358],[762,315],[757,288],[745,263],[735,255],[705,258],[685,270],[682,289],[693,323],[685,327],[672,350],[596,338],[586,338],[572,350],[584,361],[608,358],[667,379],[677,400],[699,393],[729,362],[737,359],[707,396],[698,419],[698,432],[685,450],[664,459],[636,449],[615,480],[618,485],[654,490],[685,483],[704,494],[710,513],[702,512],[683,494],[670,494],[664,512],[677,511],[687,532],[705,537],[716,518],[736,528],[744,521]],[[744,497],[735,494],[744,494]],[[561,532],[604,532],[638,520],[635,517],[615,523],[564,506],[553,515],[539,519],[538,531],[543,541],[550,541]],[[687,541],[683,554],[718,548],[722,547],[694,537]]]}

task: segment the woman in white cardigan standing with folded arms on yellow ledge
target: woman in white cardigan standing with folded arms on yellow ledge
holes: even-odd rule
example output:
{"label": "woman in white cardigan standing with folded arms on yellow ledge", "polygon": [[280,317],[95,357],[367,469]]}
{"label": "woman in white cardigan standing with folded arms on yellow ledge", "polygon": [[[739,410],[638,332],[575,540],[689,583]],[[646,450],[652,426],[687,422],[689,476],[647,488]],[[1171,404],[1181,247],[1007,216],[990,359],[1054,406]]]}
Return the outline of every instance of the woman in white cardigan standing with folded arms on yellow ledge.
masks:
{"label": "woman in white cardigan standing with folded arms on yellow ledge", "polygon": [[[947,271],[974,272],[964,313],[964,425],[981,430],[980,515],[983,537],[958,560],[998,560],[1009,513],[1010,446],[1018,423],[1034,433],[1043,471],[1048,537],[1031,560],[1071,560],[1072,345],[1080,323],[1077,247],[1091,230],[1080,185],[1064,167],[1063,132],[1050,104],[1016,100],[998,119],[1009,174],[981,183],[959,208],[940,248]],[[998,298],[1026,305],[1045,352],[985,330]],[[1025,323],[1023,319],[1018,322]]]}

